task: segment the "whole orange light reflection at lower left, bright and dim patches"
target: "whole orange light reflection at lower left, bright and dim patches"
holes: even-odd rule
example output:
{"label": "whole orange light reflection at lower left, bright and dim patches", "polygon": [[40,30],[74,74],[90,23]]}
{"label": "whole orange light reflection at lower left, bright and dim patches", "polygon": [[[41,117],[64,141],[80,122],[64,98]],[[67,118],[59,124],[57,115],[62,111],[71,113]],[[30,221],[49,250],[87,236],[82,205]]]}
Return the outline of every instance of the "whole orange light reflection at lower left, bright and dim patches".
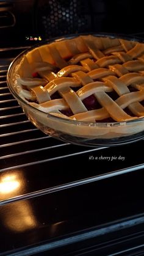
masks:
{"label": "whole orange light reflection at lower left, bright and dim patches", "polygon": [[[26,193],[26,178],[20,170],[1,175],[0,200],[10,199]],[[1,214],[3,224],[13,232],[24,232],[37,226],[37,219],[29,200],[20,200],[5,205]]]}

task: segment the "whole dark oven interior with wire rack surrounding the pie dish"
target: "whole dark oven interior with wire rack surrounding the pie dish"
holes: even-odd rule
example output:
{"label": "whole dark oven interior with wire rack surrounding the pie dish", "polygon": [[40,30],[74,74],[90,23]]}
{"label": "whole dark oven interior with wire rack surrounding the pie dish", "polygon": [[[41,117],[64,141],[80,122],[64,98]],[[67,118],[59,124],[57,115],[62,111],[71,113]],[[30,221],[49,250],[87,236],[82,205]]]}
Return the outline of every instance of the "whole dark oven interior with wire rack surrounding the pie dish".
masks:
{"label": "whole dark oven interior with wire rack surrounding the pie dish", "polygon": [[143,140],[90,148],[46,136],[6,82],[10,62],[34,37],[143,38],[139,1],[124,3],[0,1],[0,255],[144,254]]}

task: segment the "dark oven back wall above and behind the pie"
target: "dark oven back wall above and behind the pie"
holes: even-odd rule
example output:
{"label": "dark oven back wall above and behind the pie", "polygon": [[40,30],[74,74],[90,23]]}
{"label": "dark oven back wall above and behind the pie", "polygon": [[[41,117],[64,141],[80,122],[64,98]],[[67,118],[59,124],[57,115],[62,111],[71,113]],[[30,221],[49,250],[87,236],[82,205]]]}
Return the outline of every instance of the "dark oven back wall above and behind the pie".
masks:
{"label": "dark oven back wall above and behind the pie", "polygon": [[141,5],[140,0],[0,0],[0,46],[90,31],[142,33]]}

